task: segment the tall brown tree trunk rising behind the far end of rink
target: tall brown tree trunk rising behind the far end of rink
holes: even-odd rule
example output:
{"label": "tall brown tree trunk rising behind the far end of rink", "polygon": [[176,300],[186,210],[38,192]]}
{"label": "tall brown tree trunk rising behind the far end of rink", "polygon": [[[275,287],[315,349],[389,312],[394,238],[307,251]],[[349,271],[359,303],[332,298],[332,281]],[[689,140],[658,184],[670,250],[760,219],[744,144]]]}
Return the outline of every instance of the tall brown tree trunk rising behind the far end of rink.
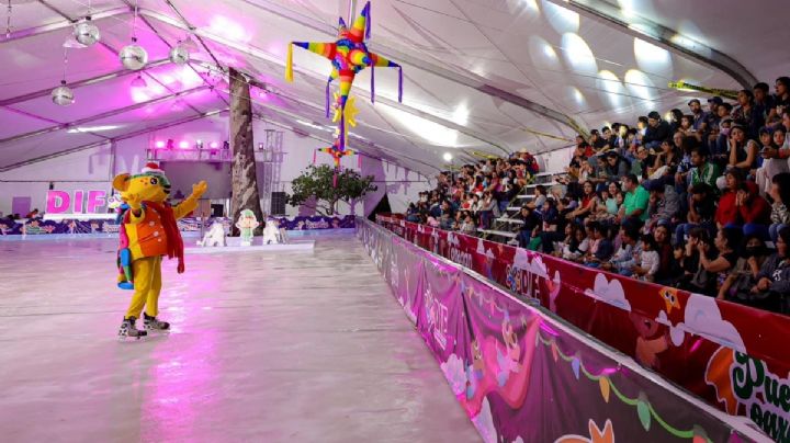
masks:
{"label": "tall brown tree trunk rising behind the far end of rink", "polygon": [[230,207],[233,207],[233,235],[238,236],[236,227],[239,214],[250,209],[263,225],[263,213],[260,207],[258,194],[258,177],[256,175],[255,144],[252,143],[252,104],[250,101],[249,83],[237,70],[230,68],[230,129],[229,143],[233,151]]}

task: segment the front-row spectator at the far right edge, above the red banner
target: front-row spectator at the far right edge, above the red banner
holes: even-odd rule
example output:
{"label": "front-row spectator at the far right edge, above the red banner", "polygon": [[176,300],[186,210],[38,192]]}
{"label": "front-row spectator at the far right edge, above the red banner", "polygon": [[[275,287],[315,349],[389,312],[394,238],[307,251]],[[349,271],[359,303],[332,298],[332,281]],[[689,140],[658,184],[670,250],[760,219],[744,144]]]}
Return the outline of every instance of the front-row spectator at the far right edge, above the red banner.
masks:
{"label": "front-row spectator at the far right edge, above the red banner", "polygon": [[790,227],[779,230],[777,252],[763,263],[757,284],[752,288],[754,303],[763,309],[790,314]]}

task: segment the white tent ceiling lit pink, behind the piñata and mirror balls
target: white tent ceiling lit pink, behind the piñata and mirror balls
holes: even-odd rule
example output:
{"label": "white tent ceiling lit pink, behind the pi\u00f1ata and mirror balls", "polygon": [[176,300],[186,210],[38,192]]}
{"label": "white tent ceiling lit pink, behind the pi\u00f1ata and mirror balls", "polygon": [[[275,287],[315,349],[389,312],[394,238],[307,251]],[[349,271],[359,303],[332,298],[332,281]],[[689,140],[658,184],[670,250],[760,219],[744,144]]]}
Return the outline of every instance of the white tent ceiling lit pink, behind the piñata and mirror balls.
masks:
{"label": "white tent ceiling lit pink, behind the pi\u00f1ata and mirror balls", "polygon": [[[776,27],[777,38],[732,32],[731,26],[752,23],[749,14],[757,20],[753,8],[738,0],[716,2],[715,14],[679,0],[607,1],[630,16],[644,14],[656,25],[688,30],[689,39],[726,54],[752,75],[772,76],[766,80],[788,63],[781,45],[770,44],[782,41],[778,34],[788,34],[786,27]],[[48,92],[60,81],[64,42],[71,23],[87,14],[88,0],[11,3],[12,30],[0,37],[0,170],[225,110],[226,67],[259,87],[253,99],[261,118],[330,137],[324,115],[329,63],[295,49],[296,81],[285,83],[285,49],[290,41],[334,41],[348,0],[139,0],[136,34],[151,61],[143,72],[144,89],[129,86],[136,73],[124,71],[116,55],[131,39],[134,0],[94,0],[92,15],[102,38],[67,50],[67,80],[77,98],[68,107],[53,104]],[[685,109],[692,95],[668,89],[668,81],[740,89],[704,54],[675,50],[585,14],[582,7],[591,3],[374,0],[370,46],[404,66],[404,100],[396,101],[394,70],[377,70],[375,105],[368,101],[370,72],[358,76],[352,93],[359,98],[360,125],[351,145],[430,172],[445,151],[544,151],[567,145],[554,137],[572,139],[571,121],[597,127],[632,123],[654,109]],[[782,2],[765,3],[779,8]],[[759,19],[777,22],[779,16]],[[190,29],[200,37],[192,63],[169,64],[169,48]],[[769,44],[752,50],[752,35]]]}

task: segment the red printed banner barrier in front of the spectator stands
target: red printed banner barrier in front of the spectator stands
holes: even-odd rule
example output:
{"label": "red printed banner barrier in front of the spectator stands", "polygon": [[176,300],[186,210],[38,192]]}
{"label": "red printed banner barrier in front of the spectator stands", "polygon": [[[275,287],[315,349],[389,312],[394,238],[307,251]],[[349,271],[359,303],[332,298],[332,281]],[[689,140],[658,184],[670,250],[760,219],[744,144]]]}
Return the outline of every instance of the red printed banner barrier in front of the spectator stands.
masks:
{"label": "red printed banner barrier in front of the spectator stands", "polygon": [[790,318],[521,248],[377,217],[424,249],[529,297],[730,414],[790,442]]}

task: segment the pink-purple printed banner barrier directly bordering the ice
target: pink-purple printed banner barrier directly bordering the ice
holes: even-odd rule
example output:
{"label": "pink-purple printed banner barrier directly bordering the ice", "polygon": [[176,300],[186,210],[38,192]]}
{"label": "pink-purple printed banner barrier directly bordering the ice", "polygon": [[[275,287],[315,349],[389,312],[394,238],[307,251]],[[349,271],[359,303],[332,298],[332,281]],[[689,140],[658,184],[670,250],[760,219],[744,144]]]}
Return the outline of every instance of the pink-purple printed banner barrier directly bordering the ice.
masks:
{"label": "pink-purple printed banner barrier directly bordering the ice", "polygon": [[357,231],[486,442],[770,441],[473,271]]}

